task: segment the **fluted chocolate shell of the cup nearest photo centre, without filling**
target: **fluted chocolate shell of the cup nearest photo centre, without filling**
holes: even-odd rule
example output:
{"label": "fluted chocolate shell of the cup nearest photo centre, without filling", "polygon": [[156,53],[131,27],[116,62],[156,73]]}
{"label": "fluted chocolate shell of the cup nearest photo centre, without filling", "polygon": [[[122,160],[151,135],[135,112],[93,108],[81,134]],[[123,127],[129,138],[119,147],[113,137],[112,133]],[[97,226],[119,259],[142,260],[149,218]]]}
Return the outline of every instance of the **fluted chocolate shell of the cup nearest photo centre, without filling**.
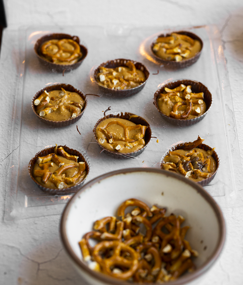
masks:
{"label": "fluted chocolate shell of the cup nearest photo centre, without filling", "polygon": [[100,145],[100,143],[98,142],[97,137],[95,135],[96,142],[98,143],[100,148],[102,150],[104,150],[105,153],[110,154],[113,157],[119,157],[119,158],[130,158],[131,157],[132,158],[132,157],[140,155],[143,152],[143,150],[147,147],[148,143],[150,142],[151,136],[152,136],[150,125],[149,125],[149,123],[145,119],[143,119],[142,117],[140,117],[138,115],[135,115],[137,117],[130,118],[130,116],[134,116],[134,115],[135,114],[128,113],[128,112],[124,112],[124,113],[123,112],[119,112],[118,114],[112,114],[112,113],[108,114],[108,115],[104,116],[103,118],[100,118],[98,120],[98,122],[95,124],[95,127],[93,129],[94,135],[95,135],[95,130],[96,130],[98,124],[100,124],[100,122],[102,122],[103,120],[108,119],[108,118],[121,118],[121,119],[125,119],[125,120],[128,120],[128,121],[131,121],[131,122],[133,122],[133,123],[135,123],[137,125],[140,124],[140,125],[143,125],[143,126],[147,127],[147,129],[145,131],[145,136],[143,138],[144,141],[145,141],[145,146],[143,148],[141,148],[139,150],[136,150],[134,152],[131,152],[131,153],[114,152],[114,151],[108,150],[108,149],[104,148],[102,145]]}

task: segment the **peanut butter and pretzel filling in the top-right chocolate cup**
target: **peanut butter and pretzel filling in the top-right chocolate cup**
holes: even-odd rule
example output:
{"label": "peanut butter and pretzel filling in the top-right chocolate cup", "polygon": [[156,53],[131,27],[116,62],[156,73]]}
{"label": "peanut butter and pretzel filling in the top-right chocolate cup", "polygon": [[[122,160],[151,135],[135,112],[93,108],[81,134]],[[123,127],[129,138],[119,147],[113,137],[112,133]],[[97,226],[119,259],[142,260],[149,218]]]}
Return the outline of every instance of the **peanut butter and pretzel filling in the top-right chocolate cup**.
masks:
{"label": "peanut butter and pretzel filling in the top-right chocolate cup", "polygon": [[153,52],[169,61],[182,61],[195,56],[202,49],[202,44],[188,35],[172,33],[168,37],[159,37],[153,46]]}

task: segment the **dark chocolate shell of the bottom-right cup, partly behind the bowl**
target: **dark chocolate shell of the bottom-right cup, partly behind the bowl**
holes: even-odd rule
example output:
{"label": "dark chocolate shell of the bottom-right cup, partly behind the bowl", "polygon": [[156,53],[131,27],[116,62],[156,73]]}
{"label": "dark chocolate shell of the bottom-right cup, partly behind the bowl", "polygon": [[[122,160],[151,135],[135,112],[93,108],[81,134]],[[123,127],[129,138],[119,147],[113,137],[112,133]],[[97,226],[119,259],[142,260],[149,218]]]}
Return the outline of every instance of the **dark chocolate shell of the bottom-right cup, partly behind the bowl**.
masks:
{"label": "dark chocolate shell of the bottom-right cup, partly behind the bowl", "polygon": [[[179,143],[178,145],[175,145],[174,147],[172,147],[172,151],[181,149],[181,147],[182,147],[184,144],[185,144],[185,142],[184,142],[184,143]],[[212,150],[212,148],[211,148],[210,146],[205,145],[205,144],[203,144],[203,143],[201,143],[200,145],[198,145],[197,148],[201,148],[201,149],[203,149],[203,150],[205,150],[205,151],[207,151],[207,150]],[[160,168],[161,168],[161,169],[163,169],[162,163],[164,163],[164,158],[165,158],[165,156],[167,156],[167,155],[169,154],[170,151],[171,151],[171,150],[168,150],[168,151],[164,154],[164,156],[162,157],[162,159],[161,159],[161,161],[160,161]],[[200,184],[200,185],[202,185],[202,186],[206,186],[207,184],[209,184],[209,182],[212,181],[212,179],[214,178],[216,172],[218,171],[218,167],[219,167],[219,164],[220,164],[220,160],[219,160],[218,155],[217,155],[217,153],[215,152],[215,150],[214,150],[213,153],[212,153],[212,157],[215,159],[217,168],[216,168],[215,172],[214,172],[211,176],[209,176],[208,178],[205,178],[205,179],[203,179],[203,180],[201,180],[201,181],[195,181],[196,183],[198,183],[198,184]],[[182,175],[182,174],[179,174],[179,173],[178,173],[178,175]],[[193,179],[191,179],[191,180],[194,181]]]}

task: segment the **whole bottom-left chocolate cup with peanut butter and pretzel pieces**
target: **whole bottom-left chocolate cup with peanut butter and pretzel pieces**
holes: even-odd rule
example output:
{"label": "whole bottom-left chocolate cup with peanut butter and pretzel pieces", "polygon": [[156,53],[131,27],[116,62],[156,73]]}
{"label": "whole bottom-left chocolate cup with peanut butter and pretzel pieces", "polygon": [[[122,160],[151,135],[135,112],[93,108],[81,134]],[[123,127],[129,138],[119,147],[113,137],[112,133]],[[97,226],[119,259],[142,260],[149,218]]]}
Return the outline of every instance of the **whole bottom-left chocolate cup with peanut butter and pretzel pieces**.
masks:
{"label": "whole bottom-left chocolate cup with peanut butter and pretzel pieces", "polygon": [[39,151],[28,171],[42,191],[63,195],[79,190],[89,173],[89,163],[78,150],[56,145]]}

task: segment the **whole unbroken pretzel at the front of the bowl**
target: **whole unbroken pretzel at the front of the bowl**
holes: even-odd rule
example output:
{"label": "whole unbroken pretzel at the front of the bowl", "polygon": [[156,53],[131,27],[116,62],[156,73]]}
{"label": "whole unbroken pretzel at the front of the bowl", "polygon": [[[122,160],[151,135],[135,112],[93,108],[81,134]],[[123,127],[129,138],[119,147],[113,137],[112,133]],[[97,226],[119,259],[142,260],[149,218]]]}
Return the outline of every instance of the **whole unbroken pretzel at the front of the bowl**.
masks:
{"label": "whole unbroken pretzel at the front of the bowl", "polygon": [[[103,252],[111,251],[108,258],[102,256]],[[122,256],[126,252],[126,256]],[[93,249],[94,260],[100,264],[104,273],[122,279],[129,279],[138,268],[138,254],[130,246],[119,241],[103,241],[95,245]],[[125,268],[121,272],[113,268]]]}

